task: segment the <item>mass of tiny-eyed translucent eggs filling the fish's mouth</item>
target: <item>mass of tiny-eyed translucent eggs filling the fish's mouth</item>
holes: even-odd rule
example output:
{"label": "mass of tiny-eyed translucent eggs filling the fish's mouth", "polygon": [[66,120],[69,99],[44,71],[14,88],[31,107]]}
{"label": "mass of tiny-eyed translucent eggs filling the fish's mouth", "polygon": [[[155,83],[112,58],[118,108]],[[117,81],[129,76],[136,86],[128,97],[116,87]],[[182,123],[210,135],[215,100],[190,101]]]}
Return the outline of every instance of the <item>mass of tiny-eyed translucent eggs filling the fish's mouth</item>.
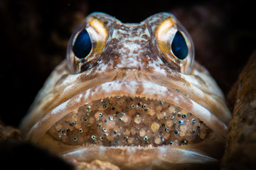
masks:
{"label": "mass of tiny-eyed translucent eggs filling the fish's mouth", "polygon": [[186,145],[209,129],[193,114],[163,101],[115,96],[86,103],[58,120],[48,133],[68,145]]}

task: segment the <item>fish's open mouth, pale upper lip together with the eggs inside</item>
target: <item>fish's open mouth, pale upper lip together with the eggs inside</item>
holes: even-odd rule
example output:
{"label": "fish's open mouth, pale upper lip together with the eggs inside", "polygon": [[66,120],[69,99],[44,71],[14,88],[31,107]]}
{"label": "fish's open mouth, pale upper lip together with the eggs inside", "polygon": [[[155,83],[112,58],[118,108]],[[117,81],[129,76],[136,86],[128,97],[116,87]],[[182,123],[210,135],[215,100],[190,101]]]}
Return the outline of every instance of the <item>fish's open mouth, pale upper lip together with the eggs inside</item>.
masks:
{"label": "fish's open mouth, pale upper lip together with the eggs inside", "polygon": [[[213,113],[178,91],[150,82],[110,81],[54,108],[33,126],[28,140],[47,136],[68,146],[65,152],[70,152],[70,146],[80,152],[88,152],[92,146],[112,151],[127,147],[184,149],[201,146],[213,134],[222,140],[226,130]],[[186,154],[189,148],[193,149],[186,147]]]}

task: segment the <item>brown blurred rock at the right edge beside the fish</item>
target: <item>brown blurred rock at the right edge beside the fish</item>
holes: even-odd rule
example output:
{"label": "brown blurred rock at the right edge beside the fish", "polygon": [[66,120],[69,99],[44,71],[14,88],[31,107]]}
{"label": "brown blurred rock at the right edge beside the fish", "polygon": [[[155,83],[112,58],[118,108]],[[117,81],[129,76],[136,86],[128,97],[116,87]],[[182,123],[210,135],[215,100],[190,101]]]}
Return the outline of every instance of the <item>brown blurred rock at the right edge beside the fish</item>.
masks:
{"label": "brown blurred rock at the right edge beside the fish", "polygon": [[[236,89],[236,91],[235,91]],[[256,51],[242,70],[236,88],[233,118],[228,126],[228,137],[222,169],[256,168]]]}

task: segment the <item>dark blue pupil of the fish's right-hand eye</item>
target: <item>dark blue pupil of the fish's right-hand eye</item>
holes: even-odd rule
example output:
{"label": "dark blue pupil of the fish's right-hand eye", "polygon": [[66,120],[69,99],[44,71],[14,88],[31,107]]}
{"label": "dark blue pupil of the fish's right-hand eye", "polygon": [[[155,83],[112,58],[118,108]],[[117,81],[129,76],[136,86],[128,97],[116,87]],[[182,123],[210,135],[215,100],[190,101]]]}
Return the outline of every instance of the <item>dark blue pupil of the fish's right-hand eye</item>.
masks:
{"label": "dark blue pupil of the fish's right-hand eye", "polygon": [[174,53],[175,57],[180,60],[186,59],[188,55],[188,46],[180,31],[177,31],[174,35],[174,40],[171,42],[171,51]]}

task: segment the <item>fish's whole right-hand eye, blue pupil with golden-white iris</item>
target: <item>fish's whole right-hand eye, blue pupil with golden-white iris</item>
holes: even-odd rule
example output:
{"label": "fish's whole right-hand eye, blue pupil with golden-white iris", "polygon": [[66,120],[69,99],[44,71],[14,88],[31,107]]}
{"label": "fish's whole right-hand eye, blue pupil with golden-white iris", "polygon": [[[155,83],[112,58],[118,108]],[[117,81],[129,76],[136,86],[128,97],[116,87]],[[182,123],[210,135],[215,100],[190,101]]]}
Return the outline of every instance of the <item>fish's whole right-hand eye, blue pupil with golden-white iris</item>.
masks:
{"label": "fish's whole right-hand eye, blue pupil with golden-white iris", "polygon": [[159,23],[152,21],[156,28],[149,30],[156,38],[159,58],[170,69],[182,74],[191,74],[194,61],[193,40],[186,28],[171,13],[164,13],[165,19]]}

